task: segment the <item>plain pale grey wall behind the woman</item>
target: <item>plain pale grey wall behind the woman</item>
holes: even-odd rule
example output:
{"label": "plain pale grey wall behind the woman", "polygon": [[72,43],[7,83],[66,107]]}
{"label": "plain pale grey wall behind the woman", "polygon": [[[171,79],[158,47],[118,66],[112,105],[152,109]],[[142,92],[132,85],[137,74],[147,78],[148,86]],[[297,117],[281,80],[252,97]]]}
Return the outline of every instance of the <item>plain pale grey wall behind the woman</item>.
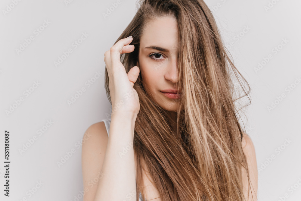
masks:
{"label": "plain pale grey wall behind the woman", "polygon": [[[10,196],[2,190],[0,200],[82,200],[80,140],[111,108],[104,89],[104,52],[136,12],[135,0],[120,0],[112,9],[116,2],[1,1],[1,189],[5,130],[10,132],[11,163]],[[259,168],[258,198],[300,200],[301,2],[206,3],[253,90],[245,112]],[[110,7],[113,11],[104,17]],[[68,102],[82,87],[75,102]],[[72,156],[58,165],[71,150]]]}

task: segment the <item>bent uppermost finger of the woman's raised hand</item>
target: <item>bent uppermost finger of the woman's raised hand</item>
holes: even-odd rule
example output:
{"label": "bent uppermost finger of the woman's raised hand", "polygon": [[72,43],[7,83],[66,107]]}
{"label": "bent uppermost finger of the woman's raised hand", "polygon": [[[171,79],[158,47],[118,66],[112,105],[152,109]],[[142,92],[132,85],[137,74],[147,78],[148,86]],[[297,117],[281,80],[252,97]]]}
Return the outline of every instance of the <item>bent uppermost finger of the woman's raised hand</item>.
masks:
{"label": "bent uppermost finger of the woman's raised hand", "polygon": [[130,42],[132,42],[132,40],[133,40],[132,37],[120,39],[118,42],[116,42],[110,48],[110,56],[111,56],[112,66],[117,65],[118,63],[120,63],[120,54],[121,54],[121,51],[122,51],[123,47],[130,44]]}

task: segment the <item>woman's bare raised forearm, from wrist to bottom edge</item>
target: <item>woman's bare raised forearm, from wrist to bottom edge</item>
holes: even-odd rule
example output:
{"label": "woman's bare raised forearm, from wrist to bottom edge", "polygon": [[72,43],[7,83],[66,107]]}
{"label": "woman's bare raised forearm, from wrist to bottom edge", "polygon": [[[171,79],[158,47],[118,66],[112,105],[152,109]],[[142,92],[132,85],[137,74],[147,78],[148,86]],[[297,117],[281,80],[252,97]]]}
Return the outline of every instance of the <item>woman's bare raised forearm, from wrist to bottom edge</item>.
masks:
{"label": "woman's bare raised forearm, from wrist to bottom edge", "polygon": [[[137,115],[114,114],[94,201],[136,200],[135,159],[133,149]],[[123,151],[126,150],[126,153]]]}

